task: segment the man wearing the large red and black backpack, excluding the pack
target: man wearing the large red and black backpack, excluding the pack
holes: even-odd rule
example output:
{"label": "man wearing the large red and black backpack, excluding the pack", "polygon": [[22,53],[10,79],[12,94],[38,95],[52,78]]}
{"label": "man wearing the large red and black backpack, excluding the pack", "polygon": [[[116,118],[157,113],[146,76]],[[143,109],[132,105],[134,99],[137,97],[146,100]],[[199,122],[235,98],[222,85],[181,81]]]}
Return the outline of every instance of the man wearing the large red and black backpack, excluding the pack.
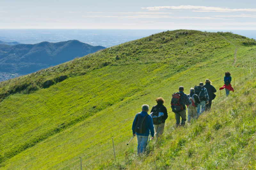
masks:
{"label": "man wearing the large red and black backpack, excluding the pack", "polygon": [[[186,105],[191,104],[191,100],[192,98],[188,98],[188,96],[183,92],[184,91],[184,87],[180,86],[179,87],[179,93],[180,93],[180,100],[181,100],[181,104],[183,106],[183,110],[180,112],[175,112],[175,119],[176,119],[176,127],[178,127],[179,125],[184,126],[185,122],[186,122]],[[180,123],[180,117],[181,117],[181,123]]]}

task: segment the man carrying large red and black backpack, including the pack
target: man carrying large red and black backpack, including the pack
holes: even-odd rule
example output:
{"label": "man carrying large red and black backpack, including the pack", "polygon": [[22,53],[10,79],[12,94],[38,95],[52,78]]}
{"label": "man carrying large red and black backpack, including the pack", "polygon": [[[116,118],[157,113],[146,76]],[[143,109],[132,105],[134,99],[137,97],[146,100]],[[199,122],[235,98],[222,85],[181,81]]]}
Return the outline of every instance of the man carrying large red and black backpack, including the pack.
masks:
{"label": "man carrying large red and black backpack, including the pack", "polygon": [[[172,94],[172,101],[171,101],[171,107],[172,112],[175,113],[175,119],[176,119],[176,127],[179,125],[184,126],[186,122],[186,105],[191,104],[192,98],[188,98],[188,96],[183,92],[184,87],[179,87],[178,93]],[[181,117],[181,123],[180,123],[180,117]]]}

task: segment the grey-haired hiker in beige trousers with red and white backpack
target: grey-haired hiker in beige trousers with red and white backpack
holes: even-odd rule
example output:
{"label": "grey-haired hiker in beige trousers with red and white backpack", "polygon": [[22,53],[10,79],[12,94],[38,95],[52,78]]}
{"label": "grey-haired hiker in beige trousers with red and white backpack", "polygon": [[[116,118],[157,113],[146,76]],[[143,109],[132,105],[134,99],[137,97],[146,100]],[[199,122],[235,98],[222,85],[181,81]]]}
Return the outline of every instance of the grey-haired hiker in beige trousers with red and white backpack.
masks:
{"label": "grey-haired hiker in beige trousers with red and white backpack", "polygon": [[190,122],[191,118],[197,118],[197,105],[200,104],[200,100],[198,96],[195,94],[195,89],[190,88],[190,94],[188,98],[192,98],[191,104],[187,106],[188,108],[188,122]]}

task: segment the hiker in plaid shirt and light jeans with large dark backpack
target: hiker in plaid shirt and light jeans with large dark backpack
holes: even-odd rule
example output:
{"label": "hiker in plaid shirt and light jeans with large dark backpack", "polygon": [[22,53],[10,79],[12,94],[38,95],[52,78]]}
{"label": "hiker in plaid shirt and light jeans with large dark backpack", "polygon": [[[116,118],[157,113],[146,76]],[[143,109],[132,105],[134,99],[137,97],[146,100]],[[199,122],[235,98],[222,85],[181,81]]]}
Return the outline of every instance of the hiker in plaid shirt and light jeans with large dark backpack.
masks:
{"label": "hiker in plaid shirt and light jeans with large dark backpack", "polygon": [[[207,90],[203,87],[204,83],[200,82],[199,86],[195,86],[195,93],[199,97],[200,104],[197,105],[197,116],[200,116],[205,110],[205,104],[209,103],[209,96]],[[206,102],[206,103],[205,103]]]}

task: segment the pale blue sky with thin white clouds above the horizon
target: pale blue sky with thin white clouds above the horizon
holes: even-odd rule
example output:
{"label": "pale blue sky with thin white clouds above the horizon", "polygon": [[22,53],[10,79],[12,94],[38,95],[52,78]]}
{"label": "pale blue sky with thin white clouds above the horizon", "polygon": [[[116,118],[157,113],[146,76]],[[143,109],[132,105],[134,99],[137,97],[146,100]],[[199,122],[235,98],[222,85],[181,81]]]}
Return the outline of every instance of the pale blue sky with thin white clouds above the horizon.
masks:
{"label": "pale blue sky with thin white clouds above the horizon", "polygon": [[0,0],[0,29],[256,30],[256,0]]}

